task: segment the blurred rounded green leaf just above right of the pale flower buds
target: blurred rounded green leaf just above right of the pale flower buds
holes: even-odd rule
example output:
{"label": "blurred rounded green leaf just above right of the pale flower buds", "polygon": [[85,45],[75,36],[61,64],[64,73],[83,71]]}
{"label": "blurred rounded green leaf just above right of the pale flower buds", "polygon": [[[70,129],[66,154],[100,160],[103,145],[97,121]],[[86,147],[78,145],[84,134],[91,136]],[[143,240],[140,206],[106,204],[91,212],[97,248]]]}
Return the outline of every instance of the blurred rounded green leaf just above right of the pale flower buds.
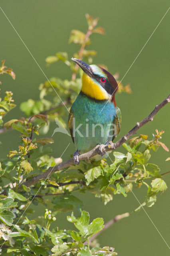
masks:
{"label": "blurred rounded green leaf just above right of the pale flower buds", "polygon": [[55,209],[62,212],[73,210],[74,207],[81,210],[83,203],[77,197],[73,195],[60,195],[53,198],[52,203],[55,204]]}

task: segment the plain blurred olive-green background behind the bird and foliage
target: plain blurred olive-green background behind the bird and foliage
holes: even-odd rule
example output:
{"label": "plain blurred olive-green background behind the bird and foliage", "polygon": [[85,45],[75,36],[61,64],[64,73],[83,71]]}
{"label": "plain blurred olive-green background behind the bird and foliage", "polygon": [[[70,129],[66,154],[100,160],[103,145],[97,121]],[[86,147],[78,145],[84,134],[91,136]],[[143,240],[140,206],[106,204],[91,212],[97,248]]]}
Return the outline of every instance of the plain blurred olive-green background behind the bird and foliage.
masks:
{"label": "plain blurred olive-green background behind the bird and foliage", "polygon": [[[123,78],[128,68],[168,10],[168,0],[8,0],[1,1],[1,7],[6,16],[16,28],[18,34],[29,48],[30,52],[41,66],[48,78],[60,76],[70,78],[71,72],[62,63],[45,65],[45,58],[57,51],[67,51],[71,58],[77,46],[68,44],[71,29],[86,31],[85,14],[99,17],[99,26],[106,31],[105,36],[94,34],[89,49],[98,52],[93,64],[103,63],[108,66],[112,74],[120,72]],[[146,44],[137,60],[134,62],[123,84],[130,82],[132,94],[117,94],[117,105],[122,112],[122,128],[119,135],[125,135],[137,121],[145,118],[169,94],[169,22],[168,12],[149,42]],[[0,60],[6,59],[6,65],[13,68],[16,80],[10,76],[1,76],[2,94],[5,90],[12,90],[17,108],[6,117],[20,118],[22,112],[20,103],[33,98],[38,100],[38,86],[45,81],[40,68],[10,25],[7,18],[0,11],[1,39]],[[155,128],[165,130],[162,142],[170,147],[169,140],[169,107],[165,106],[155,117],[153,122],[146,124],[138,134],[148,134],[150,138]],[[55,126],[50,126],[48,136],[51,136]],[[1,135],[0,156],[4,157],[9,150],[16,150],[18,132],[11,131]],[[59,157],[71,139],[63,134],[53,136],[52,145],[55,157]],[[69,158],[75,150],[71,142],[63,155],[63,160]],[[123,147],[119,151],[124,152]],[[165,162],[170,155],[162,148],[152,152],[152,163],[158,164],[161,172],[169,170],[169,163]],[[113,156],[112,156],[113,158]],[[170,186],[170,175],[164,176]],[[169,188],[170,189],[170,188]],[[145,191],[144,191],[145,190]],[[134,194],[140,202],[144,200],[146,188],[134,189]],[[78,194],[84,202],[84,209],[89,211],[91,219],[103,217],[105,222],[124,212],[132,212],[138,207],[138,202],[132,193],[127,198],[115,196],[113,201],[104,206],[99,199],[89,194]],[[152,208],[145,208],[150,219],[168,243],[169,241],[169,191],[158,195],[156,204]],[[41,211],[36,209],[36,215]],[[60,214],[56,225],[59,228],[73,228],[66,222],[66,215]],[[152,224],[146,213],[132,213],[130,217],[111,226],[99,236],[101,246],[114,246],[119,256],[130,255],[169,255],[168,246]]]}

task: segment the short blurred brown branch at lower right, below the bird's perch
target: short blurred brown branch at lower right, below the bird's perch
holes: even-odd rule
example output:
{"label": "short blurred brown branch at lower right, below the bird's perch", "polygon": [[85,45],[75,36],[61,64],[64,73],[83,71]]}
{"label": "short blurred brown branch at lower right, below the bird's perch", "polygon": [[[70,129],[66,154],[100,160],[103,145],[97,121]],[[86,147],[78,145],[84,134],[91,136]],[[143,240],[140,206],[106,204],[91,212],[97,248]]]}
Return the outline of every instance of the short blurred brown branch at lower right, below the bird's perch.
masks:
{"label": "short blurred brown branch at lower right, below the bird's perch", "polygon": [[[103,231],[105,231],[107,228],[110,228],[110,226],[112,226],[113,224],[115,224],[115,222],[118,222],[119,220],[126,218],[129,216],[129,213],[126,212],[124,214],[119,214],[117,215],[114,219],[109,220],[104,228],[102,230],[100,230],[99,232],[97,232],[96,234],[94,234],[91,238],[89,238],[89,244],[91,244],[93,242],[93,240],[95,240],[97,238],[97,236],[99,236],[99,234],[101,234]],[[87,241],[84,242],[84,244],[87,244]]]}

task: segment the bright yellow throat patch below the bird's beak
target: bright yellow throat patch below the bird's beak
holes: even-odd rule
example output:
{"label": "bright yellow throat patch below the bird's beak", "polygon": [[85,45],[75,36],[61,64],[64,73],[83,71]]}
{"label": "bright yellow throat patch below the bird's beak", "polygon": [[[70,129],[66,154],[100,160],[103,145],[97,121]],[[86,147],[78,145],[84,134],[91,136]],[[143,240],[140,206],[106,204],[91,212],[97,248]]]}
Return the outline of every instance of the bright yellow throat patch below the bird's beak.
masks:
{"label": "bright yellow throat patch below the bird's beak", "polygon": [[87,96],[96,100],[108,100],[109,94],[99,84],[96,84],[92,78],[83,73],[82,76],[82,92]]}

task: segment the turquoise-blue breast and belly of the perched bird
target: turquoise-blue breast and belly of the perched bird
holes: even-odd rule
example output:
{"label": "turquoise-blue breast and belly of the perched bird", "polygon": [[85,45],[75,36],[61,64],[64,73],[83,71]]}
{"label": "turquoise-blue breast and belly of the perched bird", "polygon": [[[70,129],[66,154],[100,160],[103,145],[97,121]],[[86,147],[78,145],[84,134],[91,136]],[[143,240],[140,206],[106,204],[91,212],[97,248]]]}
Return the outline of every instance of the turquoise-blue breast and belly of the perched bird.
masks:
{"label": "turquoise-blue breast and belly of the perched bird", "polygon": [[73,136],[76,149],[80,153],[88,152],[97,144],[105,144],[112,140],[113,130],[110,129],[113,129],[116,112],[114,104],[106,102],[79,94],[73,103]]}

